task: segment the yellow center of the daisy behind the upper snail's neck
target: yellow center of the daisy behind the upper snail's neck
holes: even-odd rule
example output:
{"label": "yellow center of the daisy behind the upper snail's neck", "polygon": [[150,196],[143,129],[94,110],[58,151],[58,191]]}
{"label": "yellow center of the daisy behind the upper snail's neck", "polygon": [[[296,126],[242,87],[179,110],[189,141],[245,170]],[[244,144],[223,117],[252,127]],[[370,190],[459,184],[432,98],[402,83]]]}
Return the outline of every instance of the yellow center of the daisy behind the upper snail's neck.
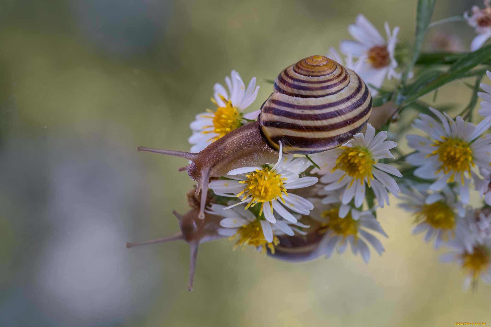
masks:
{"label": "yellow center of the daisy behind the upper snail's neck", "polygon": [[[213,117],[213,127],[215,129],[213,132],[217,133],[218,136],[214,137],[213,140],[216,141],[220,137],[225,136],[226,134],[230,133],[232,130],[242,126],[243,124],[241,123],[241,115],[237,111],[235,107],[232,106],[232,101],[231,100],[225,100],[221,95],[221,100],[225,103],[224,107],[219,107],[217,104],[217,101],[215,99],[211,99],[211,101],[215,104],[217,104],[217,112],[215,112],[215,115]],[[208,112],[213,112],[209,109],[206,111]],[[212,126],[205,126],[206,127],[212,127]],[[210,131],[204,131],[203,134],[210,133]]]}

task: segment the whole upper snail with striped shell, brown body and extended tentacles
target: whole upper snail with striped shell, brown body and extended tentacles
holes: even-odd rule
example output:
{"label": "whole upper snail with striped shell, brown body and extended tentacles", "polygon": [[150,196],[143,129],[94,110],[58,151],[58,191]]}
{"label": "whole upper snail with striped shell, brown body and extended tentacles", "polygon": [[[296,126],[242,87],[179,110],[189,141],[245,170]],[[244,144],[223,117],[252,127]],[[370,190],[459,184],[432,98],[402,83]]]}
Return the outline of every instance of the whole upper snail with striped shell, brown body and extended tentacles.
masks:
{"label": "whole upper snail with striped shell, brown body and extended tentacles", "polygon": [[[273,94],[262,104],[256,122],[243,125],[198,153],[138,147],[191,160],[179,168],[206,190],[210,177],[225,176],[241,167],[276,161],[283,153],[310,154],[341,145],[359,132],[372,112],[365,82],[352,70],[321,55],[304,58],[283,70]],[[198,217],[204,219],[205,201]]]}

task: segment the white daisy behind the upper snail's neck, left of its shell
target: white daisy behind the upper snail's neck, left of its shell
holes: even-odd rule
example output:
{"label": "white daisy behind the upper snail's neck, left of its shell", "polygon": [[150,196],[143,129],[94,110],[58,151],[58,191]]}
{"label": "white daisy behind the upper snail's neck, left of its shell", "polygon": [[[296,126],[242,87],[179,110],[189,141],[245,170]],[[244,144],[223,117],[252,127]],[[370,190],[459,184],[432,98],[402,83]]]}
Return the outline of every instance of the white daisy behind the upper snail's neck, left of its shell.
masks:
{"label": "white daisy behind the upper snail's neck, left of its shell", "polygon": [[193,134],[189,138],[191,152],[200,152],[210,143],[218,140],[232,130],[255,120],[260,110],[243,113],[249,105],[256,100],[259,86],[256,86],[256,77],[252,77],[247,90],[241,75],[232,71],[231,78],[226,76],[225,83],[230,91],[230,97],[225,88],[217,83],[213,87],[215,94],[211,101],[217,105],[217,111],[207,109],[196,115],[196,120],[190,124]]}

